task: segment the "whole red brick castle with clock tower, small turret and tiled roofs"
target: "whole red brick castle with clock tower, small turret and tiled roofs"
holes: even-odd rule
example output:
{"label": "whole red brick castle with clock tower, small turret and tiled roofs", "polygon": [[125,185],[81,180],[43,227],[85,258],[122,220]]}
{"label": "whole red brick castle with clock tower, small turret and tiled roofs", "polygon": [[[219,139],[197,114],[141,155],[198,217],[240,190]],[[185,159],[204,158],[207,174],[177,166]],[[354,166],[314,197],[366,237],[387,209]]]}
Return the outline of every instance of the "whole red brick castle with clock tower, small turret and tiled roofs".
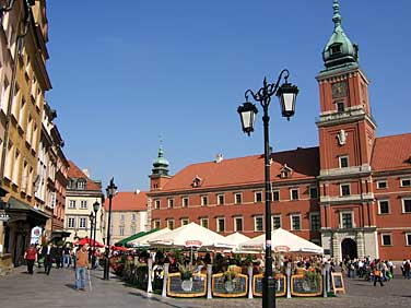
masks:
{"label": "whole red brick castle with clock tower, small turret and tiled roofs", "polygon": [[[359,47],[334,28],[322,51],[319,145],[271,153],[271,223],[338,260],[411,256],[411,133],[377,137]],[[168,174],[160,149],[148,192],[152,228],[196,222],[222,235],[265,232],[265,159],[253,155]]]}

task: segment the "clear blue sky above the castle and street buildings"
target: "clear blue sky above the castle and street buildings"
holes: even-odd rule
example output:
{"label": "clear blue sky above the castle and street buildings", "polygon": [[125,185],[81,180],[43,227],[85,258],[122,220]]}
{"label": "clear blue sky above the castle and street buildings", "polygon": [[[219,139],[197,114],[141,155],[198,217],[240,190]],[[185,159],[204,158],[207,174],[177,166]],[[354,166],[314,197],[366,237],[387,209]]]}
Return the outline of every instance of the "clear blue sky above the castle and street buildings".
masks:
{"label": "clear blue sky above the castle and street buildings", "polygon": [[[360,46],[377,135],[410,132],[409,0],[340,0]],[[169,174],[263,153],[262,109],[243,133],[237,107],[282,69],[300,88],[287,122],[270,105],[274,151],[318,146],[315,76],[332,34],[332,0],[47,1],[46,94],[68,159],[103,187],[148,190],[162,140]],[[274,97],[273,97],[274,98]]]}

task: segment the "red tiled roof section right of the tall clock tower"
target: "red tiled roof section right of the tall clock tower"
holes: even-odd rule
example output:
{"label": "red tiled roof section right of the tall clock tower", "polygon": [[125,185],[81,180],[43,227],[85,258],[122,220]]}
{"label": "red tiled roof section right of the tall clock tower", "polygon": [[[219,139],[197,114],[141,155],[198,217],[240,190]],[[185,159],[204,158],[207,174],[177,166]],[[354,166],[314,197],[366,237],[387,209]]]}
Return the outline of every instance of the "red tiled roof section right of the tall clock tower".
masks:
{"label": "red tiled roof section right of the tall clock tower", "polygon": [[374,171],[411,168],[411,133],[375,140],[371,166]]}

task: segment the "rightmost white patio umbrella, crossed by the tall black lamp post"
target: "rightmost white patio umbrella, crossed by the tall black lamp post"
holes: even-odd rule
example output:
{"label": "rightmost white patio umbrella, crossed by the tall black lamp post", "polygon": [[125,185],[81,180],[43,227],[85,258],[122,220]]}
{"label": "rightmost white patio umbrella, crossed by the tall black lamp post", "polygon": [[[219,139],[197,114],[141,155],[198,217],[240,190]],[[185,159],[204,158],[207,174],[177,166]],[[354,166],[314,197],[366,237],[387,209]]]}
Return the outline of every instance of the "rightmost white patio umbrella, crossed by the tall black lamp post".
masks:
{"label": "rightmost white patio umbrella, crossed by the tall black lamp post", "polygon": [[[262,234],[248,241],[239,245],[240,251],[258,251],[265,249],[266,235]],[[322,254],[324,248],[306,240],[291,232],[283,228],[274,229],[271,233],[271,242],[273,252],[303,252]]]}

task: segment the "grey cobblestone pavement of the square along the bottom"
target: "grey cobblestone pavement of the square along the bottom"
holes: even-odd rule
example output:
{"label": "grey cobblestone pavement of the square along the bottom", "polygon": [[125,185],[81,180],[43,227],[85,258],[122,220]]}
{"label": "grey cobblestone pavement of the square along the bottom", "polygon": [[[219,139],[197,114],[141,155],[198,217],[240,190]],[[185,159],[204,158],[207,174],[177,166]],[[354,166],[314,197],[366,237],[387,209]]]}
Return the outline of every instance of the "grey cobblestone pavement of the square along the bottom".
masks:
{"label": "grey cobblestone pavement of the square along the bottom", "polygon": [[[116,277],[103,281],[103,272],[92,273],[92,289],[78,292],[71,269],[52,269],[49,276],[40,271],[27,275],[24,268],[0,277],[1,307],[261,307],[261,299],[177,299],[149,295],[127,286]],[[411,281],[397,277],[374,287],[362,280],[345,279],[345,295],[331,298],[278,298],[277,307],[411,307]],[[3,306],[4,305],[4,306]]]}

